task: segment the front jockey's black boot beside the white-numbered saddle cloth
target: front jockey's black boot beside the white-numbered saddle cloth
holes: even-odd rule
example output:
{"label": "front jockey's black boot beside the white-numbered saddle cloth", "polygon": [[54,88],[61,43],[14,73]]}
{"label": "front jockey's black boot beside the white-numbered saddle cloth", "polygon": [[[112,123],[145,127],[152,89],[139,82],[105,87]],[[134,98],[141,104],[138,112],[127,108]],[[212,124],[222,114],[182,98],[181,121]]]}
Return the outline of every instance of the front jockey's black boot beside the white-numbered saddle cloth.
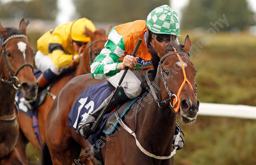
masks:
{"label": "front jockey's black boot beside the white-numbered saddle cloth", "polygon": [[[100,115],[101,111],[104,109],[104,107],[107,105],[108,101],[110,98],[113,96],[113,93],[111,93],[98,107],[97,110],[95,110],[93,113],[90,113],[88,117],[84,120],[81,121],[78,125],[78,131],[80,134],[83,136],[84,139],[88,139],[88,137],[92,134],[91,127]],[[123,87],[119,87],[118,90],[116,91],[116,94],[114,95],[114,98],[111,100],[108,110],[106,111],[105,114],[111,112],[116,108],[117,105],[124,103],[125,101],[130,100],[129,97],[126,96]]]}

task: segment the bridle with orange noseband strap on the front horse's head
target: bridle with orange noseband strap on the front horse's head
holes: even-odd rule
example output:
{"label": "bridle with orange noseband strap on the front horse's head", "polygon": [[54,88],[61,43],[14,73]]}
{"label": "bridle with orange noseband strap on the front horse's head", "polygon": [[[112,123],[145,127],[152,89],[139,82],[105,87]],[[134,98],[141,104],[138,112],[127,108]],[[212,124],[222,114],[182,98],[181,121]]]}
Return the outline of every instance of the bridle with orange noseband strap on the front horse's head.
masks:
{"label": "bridle with orange noseband strap on the front horse's head", "polygon": [[[156,90],[157,90],[157,93],[158,93],[158,97],[156,96],[155,89],[152,87],[152,84],[151,84],[151,82],[150,82],[150,80],[149,80],[149,78],[148,78],[147,75],[146,75],[146,81],[147,81],[147,84],[148,84],[148,86],[150,87],[150,90],[152,91],[153,97],[154,97],[155,101],[158,103],[158,106],[159,106],[159,107],[161,107],[161,108],[166,107],[166,108],[170,109],[170,108],[168,107],[168,104],[170,104],[170,106],[171,106],[172,108],[174,108],[174,110],[175,110],[176,112],[178,112],[178,110],[179,110],[179,108],[180,108],[180,91],[181,91],[181,89],[183,88],[183,86],[184,86],[184,84],[185,84],[186,82],[191,86],[190,82],[189,82],[188,79],[187,79],[186,72],[185,72],[185,69],[184,69],[184,66],[183,66],[183,62],[182,62],[182,60],[181,60],[179,54],[186,55],[186,56],[188,57],[188,59],[189,59],[189,55],[186,54],[185,52],[182,52],[182,51],[176,51],[176,48],[175,48],[175,47],[173,47],[173,49],[174,49],[174,51],[165,54],[165,55],[160,59],[159,64],[158,64],[158,67],[157,67],[157,73],[156,73],[157,89],[156,89]],[[182,85],[180,86],[180,89],[179,89],[177,95],[174,94],[174,93],[172,93],[171,90],[169,89],[169,87],[168,87],[168,85],[167,85],[167,82],[165,81],[165,78],[164,78],[164,76],[163,76],[163,74],[166,74],[165,72],[167,72],[167,70],[166,70],[166,71],[163,71],[163,69],[162,69],[162,62],[163,62],[163,60],[164,60],[166,57],[168,57],[169,55],[172,55],[172,54],[176,54],[177,57],[179,58],[180,63],[181,63],[181,65],[182,65],[183,75],[184,75],[184,81],[183,81]],[[160,69],[160,75],[159,75],[159,69]],[[167,73],[167,74],[168,74],[168,73]],[[163,81],[163,83],[164,83],[164,85],[165,85],[165,90],[167,91],[167,93],[168,93],[168,95],[169,95],[169,97],[170,97],[169,99],[164,100],[164,101],[162,101],[162,98],[161,98],[161,93],[160,93],[160,88],[159,88],[159,76],[161,76],[161,79],[162,79],[162,81]],[[194,92],[194,93],[195,93],[195,95],[197,96],[197,84],[196,84],[196,83],[195,83],[195,86],[196,86],[196,89],[195,89],[195,92]],[[192,88],[192,86],[191,86],[191,88]],[[193,89],[193,88],[192,88],[192,89]],[[158,98],[159,98],[159,99],[158,99]],[[173,98],[174,98],[174,99],[173,99]],[[173,103],[172,103],[173,105],[171,104],[171,102],[173,102]]]}

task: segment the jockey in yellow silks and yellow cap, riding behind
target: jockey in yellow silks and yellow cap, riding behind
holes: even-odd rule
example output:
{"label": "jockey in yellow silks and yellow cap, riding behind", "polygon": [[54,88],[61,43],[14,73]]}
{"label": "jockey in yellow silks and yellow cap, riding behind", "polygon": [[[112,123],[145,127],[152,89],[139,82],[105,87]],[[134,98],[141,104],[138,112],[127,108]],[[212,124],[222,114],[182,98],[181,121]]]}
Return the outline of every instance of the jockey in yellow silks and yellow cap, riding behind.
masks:
{"label": "jockey in yellow silks and yellow cap, riding behind", "polygon": [[49,30],[37,40],[35,65],[43,72],[37,80],[39,88],[47,86],[74,59],[78,61],[79,48],[91,40],[85,27],[95,31],[89,19],[80,18]]}

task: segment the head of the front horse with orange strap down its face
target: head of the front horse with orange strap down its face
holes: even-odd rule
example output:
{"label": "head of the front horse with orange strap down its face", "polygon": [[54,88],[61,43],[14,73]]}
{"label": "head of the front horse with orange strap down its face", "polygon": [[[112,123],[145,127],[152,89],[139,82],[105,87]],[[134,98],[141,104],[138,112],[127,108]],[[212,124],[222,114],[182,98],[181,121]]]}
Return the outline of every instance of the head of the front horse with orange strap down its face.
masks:
{"label": "head of the front horse with orange strap down its face", "polygon": [[154,45],[161,58],[157,76],[162,100],[169,102],[168,107],[180,114],[184,123],[196,120],[199,108],[195,82],[197,69],[189,60],[189,37],[186,37],[184,46],[171,42],[165,49],[156,40]]}

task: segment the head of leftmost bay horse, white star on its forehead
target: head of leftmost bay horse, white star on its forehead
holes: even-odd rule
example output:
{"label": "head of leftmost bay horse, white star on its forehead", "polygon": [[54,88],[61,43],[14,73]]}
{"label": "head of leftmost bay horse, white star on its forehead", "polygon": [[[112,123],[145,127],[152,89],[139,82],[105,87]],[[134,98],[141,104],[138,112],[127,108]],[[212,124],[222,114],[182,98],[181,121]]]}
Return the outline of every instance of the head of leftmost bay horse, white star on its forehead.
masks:
{"label": "head of leftmost bay horse, white star on its forehead", "polygon": [[26,28],[24,19],[20,21],[20,30],[0,24],[0,76],[2,82],[20,90],[26,100],[32,100],[37,95],[38,84],[33,74],[34,49],[27,40]]}

